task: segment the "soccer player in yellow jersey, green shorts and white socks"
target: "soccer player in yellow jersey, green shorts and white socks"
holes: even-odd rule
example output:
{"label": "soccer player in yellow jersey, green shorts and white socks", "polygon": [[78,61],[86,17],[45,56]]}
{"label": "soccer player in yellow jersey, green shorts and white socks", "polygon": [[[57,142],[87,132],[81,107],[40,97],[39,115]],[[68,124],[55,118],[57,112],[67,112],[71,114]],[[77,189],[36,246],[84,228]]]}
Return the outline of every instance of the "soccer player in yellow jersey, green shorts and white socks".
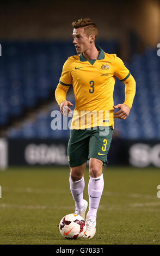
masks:
{"label": "soccer player in yellow jersey, green shorts and white socks", "polygon": [[[73,104],[66,100],[66,93],[70,86],[73,87],[75,110],[67,147],[69,182],[75,213],[85,218],[88,202],[83,199],[83,173],[89,160],[89,210],[84,237],[91,239],[96,233],[97,209],[104,187],[102,167],[107,163],[114,117],[123,120],[128,117],[136,82],[116,54],[108,54],[95,45],[97,27],[93,21],[79,19],[72,22],[72,26],[77,55],[64,63],[55,96],[61,113],[69,114]],[[125,83],[125,101],[116,106],[113,101],[115,77]],[[115,109],[118,111],[114,113]]]}

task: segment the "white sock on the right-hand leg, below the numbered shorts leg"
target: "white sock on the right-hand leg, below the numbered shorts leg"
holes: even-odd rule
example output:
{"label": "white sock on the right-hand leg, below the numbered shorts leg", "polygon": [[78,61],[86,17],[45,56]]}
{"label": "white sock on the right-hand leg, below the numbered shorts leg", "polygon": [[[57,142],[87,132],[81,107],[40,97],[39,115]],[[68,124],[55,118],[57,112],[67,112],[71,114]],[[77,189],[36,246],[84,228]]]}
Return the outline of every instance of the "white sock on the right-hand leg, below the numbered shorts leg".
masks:
{"label": "white sock on the right-hand leg, below the numbered shorts leg", "polygon": [[97,178],[91,178],[88,183],[89,211],[88,218],[96,218],[104,187],[103,174]]}

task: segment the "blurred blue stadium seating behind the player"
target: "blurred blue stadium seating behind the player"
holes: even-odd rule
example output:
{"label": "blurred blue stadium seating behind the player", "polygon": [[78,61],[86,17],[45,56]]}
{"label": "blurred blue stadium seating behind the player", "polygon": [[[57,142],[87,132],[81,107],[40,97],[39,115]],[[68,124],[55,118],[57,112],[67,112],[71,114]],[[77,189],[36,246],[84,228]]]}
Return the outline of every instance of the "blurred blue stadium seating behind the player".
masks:
{"label": "blurred blue stadium seating behind the player", "polygon": [[[41,100],[50,100],[47,111],[38,111],[33,120],[24,120],[20,127],[10,126],[9,138],[68,138],[65,131],[51,129],[51,112],[58,109],[51,103],[67,57],[74,55],[71,42],[2,42],[0,62],[0,126],[10,118],[17,118],[26,109],[38,106]],[[118,52],[117,42],[99,42],[104,51]],[[130,116],[115,120],[121,138],[160,138],[159,67],[157,49],[147,48],[143,54],[134,54],[126,63],[137,82],[137,93]],[[116,80],[114,102],[124,101],[124,83]],[[73,102],[73,95],[69,94]],[[151,104],[152,103],[152,104]],[[152,107],[153,106],[153,107]],[[145,128],[145,129],[144,129]]]}

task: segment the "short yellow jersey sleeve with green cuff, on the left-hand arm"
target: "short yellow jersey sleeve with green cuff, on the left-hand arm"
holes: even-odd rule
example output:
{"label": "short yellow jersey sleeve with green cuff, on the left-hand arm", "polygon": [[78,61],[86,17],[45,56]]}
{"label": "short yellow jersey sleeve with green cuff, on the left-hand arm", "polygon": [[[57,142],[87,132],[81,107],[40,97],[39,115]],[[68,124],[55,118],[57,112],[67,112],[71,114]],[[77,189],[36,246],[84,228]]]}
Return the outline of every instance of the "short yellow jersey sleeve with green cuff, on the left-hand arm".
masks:
{"label": "short yellow jersey sleeve with green cuff, on the left-hand arm", "polygon": [[63,65],[63,70],[61,72],[61,77],[59,83],[63,86],[71,86],[72,85],[72,76],[70,70],[70,59],[67,59]]}

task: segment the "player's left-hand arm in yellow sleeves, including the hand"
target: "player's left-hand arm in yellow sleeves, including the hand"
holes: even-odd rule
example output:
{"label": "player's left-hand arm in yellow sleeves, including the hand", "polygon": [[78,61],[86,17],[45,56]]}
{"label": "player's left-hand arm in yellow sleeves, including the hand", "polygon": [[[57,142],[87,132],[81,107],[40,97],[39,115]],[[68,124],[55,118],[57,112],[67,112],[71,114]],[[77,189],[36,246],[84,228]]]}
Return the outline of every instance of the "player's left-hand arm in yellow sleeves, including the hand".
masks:
{"label": "player's left-hand arm in yellow sleeves, including the hand", "polygon": [[67,115],[71,112],[68,106],[73,106],[70,101],[66,100],[66,94],[70,86],[72,85],[72,76],[70,72],[70,60],[67,59],[63,65],[63,70],[55,91],[56,101],[60,107],[61,114]]}

